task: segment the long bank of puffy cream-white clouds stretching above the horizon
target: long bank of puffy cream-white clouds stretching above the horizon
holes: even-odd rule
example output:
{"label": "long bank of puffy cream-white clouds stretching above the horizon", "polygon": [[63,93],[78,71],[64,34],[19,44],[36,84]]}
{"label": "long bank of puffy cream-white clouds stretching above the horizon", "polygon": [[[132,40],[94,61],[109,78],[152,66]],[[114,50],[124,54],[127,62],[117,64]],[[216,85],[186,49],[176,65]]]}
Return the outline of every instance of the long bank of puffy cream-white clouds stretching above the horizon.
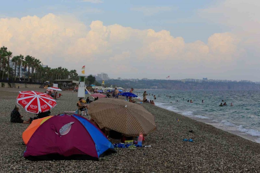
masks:
{"label": "long bank of puffy cream-white clouds stretching above the horizon", "polygon": [[175,78],[207,74],[221,78],[219,69],[245,54],[244,43],[232,33],[215,33],[207,43],[185,43],[166,30],[105,26],[99,20],[86,26],[76,18],[54,14],[1,18],[0,26],[0,46],[14,55],[30,54],[50,67],[80,69],[85,64],[87,73],[107,72],[112,78],[161,78],[176,72]]}

